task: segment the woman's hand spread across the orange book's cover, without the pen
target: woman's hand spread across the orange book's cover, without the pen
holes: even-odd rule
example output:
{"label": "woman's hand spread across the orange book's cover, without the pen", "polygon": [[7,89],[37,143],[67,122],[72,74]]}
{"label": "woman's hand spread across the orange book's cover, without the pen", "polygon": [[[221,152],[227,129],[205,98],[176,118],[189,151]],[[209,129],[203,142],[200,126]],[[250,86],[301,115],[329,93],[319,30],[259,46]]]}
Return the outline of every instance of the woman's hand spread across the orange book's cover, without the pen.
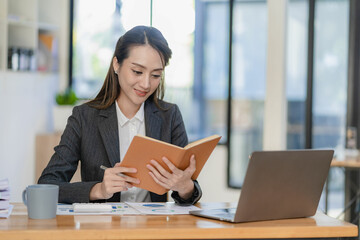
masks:
{"label": "woman's hand spread across the orange book's cover, without the pen", "polygon": [[190,157],[190,165],[184,171],[175,167],[166,157],[162,157],[161,160],[171,172],[165,170],[157,161],[151,160],[151,164],[146,167],[150,170],[149,174],[154,181],[166,189],[177,191],[183,199],[191,197],[194,191],[194,182],[191,180],[191,176],[196,170],[195,156]]}

